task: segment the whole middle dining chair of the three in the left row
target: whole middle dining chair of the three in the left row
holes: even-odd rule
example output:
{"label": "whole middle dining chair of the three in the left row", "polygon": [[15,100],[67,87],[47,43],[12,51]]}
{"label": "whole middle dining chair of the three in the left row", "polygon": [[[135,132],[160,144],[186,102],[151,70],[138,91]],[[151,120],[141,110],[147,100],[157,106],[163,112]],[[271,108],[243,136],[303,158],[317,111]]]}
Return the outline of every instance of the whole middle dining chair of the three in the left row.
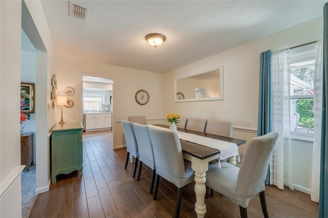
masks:
{"label": "whole middle dining chair of the three in the left row", "polygon": [[149,189],[149,193],[152,194],[155,182],[156,167],[153,146],[148,132],[149,126],[138,123],[133,123],[132,126],[139,151],[139,172],[137,181],[140,180],[142,164],[146,164],[152,169],[152,182]]}

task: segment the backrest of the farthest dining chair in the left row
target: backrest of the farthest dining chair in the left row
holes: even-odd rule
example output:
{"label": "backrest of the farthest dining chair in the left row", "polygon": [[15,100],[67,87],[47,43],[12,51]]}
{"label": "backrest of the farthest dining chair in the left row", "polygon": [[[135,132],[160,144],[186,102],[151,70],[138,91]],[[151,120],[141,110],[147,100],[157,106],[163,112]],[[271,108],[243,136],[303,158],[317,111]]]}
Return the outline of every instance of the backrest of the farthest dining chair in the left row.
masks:
{"label": "backrest of the farthest dining chair in the left row", "polygon": [[130,152],[134,157],[139,157],[137,141],[134,135],[134,130],[132,127],[132,122],[121,121],[125,142],[127,144],[127,152]]}

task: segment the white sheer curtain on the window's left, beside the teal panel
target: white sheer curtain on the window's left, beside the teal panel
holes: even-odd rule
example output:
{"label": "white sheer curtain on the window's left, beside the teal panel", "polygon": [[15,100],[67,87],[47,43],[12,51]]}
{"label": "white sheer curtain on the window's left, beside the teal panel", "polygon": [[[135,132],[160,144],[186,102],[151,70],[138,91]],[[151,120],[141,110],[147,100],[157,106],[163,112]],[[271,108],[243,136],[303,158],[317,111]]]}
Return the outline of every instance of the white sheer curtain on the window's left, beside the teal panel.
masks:
{"label": "white sheer curtain on the window's left, beside the teal panel", "polygon": [[[271,64],[271,122],[272,131],[278,132],[270,172],[270,184],[283,189],[283,185],[293,190],[292,147],[290,122],[290,49],[275,51]],[[272,166],[273,165],[273,166]]]}

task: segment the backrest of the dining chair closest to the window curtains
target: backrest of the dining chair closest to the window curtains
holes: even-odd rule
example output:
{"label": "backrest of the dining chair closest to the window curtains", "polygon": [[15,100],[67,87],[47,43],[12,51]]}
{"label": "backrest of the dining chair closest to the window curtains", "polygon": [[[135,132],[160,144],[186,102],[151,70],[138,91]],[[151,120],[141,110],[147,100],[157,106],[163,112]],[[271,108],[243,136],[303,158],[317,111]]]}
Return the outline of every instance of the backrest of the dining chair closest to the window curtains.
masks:
{"label": "backrest of the dining chair closest to the window curtains", "polygon": [[277,138],[276,132],[252,138],[245,149],[236,187],[236,199],[240,206],[247,206],[257,193],[264,191],[269,161]]}

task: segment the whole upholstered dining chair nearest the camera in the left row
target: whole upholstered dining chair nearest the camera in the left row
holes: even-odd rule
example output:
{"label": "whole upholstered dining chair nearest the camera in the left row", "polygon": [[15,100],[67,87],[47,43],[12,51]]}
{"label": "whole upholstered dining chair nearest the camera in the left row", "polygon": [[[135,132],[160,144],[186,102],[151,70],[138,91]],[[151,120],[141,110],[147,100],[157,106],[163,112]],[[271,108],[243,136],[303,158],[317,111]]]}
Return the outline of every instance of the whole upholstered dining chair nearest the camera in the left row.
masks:
{"label": "whole upholstered dining chair nearest the camera in the left row", "polygon": [[156,166],[153,200],[156,200],[160,177],[173,183],[177,187],[174,215],[177,218],[181,205],[181,188],[194,181],[191,162],[183,160],[181,144],[176,132],[150,127],[149,135],[153,145]]}

